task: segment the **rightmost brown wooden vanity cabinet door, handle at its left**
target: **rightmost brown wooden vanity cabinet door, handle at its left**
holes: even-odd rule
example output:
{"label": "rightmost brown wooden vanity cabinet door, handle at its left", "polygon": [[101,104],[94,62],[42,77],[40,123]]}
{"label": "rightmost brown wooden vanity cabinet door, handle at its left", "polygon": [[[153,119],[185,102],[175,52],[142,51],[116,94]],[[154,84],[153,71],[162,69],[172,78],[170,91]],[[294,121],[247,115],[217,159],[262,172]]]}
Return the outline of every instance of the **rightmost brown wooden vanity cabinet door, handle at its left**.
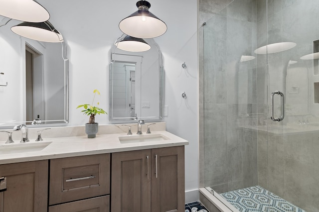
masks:
{"label": "rightmost brown wooden vanity cabinet door, handle at its left", "polygon": [[184,146],[152,149],[152,212],[185,211]]}

